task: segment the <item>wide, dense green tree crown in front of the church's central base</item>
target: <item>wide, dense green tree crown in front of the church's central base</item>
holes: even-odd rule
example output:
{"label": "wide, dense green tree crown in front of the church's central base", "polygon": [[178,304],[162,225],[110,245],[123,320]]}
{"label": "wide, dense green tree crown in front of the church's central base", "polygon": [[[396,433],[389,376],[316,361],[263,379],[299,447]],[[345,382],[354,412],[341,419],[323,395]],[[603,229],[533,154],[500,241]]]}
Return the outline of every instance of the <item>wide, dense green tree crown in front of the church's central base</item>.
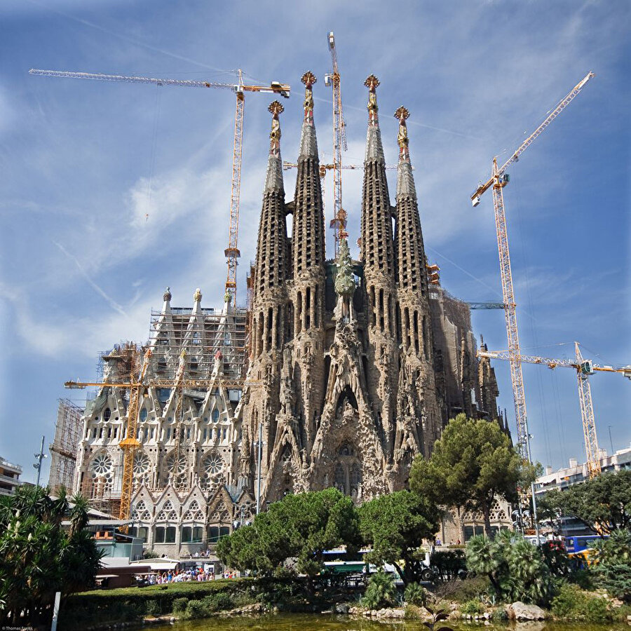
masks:
{"label": "wide, dense green tree crown in front of the church's central base", "polygon": [[287,495],[217,544],[217,556],[231,567],[271,576],[287,559],[313,577],[323,568],[323,552],[358,545],[358,517],[351,498],[337,489]]}

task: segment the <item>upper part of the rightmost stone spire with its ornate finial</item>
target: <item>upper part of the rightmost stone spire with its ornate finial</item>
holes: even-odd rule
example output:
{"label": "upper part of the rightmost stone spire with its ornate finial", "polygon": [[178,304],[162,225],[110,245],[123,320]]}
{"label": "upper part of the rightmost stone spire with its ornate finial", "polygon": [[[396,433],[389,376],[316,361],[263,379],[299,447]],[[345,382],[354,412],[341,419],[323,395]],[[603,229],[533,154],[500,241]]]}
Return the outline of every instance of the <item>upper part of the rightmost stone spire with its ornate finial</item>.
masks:
{"label": "upper part of the rightmost stone spire with its ornate finial", "polygon": [[425,249],[419,206],[416,201],[416,186],[409,160],[409,140],[406,119],[409,111],[401,106],[395,111],[399,121],[399,164],[397,167],[397,207],[395,250],[397,254],[397,279],[399,292],[409,290],[415,297],[427,295]]}

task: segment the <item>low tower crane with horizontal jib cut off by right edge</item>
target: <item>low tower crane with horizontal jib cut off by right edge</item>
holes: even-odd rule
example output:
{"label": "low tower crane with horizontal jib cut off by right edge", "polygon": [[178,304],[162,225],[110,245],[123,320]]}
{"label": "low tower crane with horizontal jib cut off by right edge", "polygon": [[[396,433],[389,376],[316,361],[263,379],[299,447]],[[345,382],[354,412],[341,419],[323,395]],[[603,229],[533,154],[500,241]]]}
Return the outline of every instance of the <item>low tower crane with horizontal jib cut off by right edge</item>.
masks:
{"label": "low tower crane with horizontal jib cut off by right edge", "polygon": [[[578,401],[581,406],[581,419],[583,421],[583,438],[585,440],[585,456],[587,458],[588,473],[595,477],[600,473],[600,457],[598,452],[598,437],[596,433],[596,419],[594,406],[592,405],[592,389],[590,388],[590,374],[595,372],[618,372],[627,379],[631,379],[631,366],[613,367],[599,366],[592,360],[585,360],[581,354],[578,342],[574,342],[576,358],[574,360],[553,359],[550,357],[537,357],[535,355],[518,355],[520,363],[541,364],[548,368],[574,368],[578,381]],[[508,351],[477,351],[478,357],[510,361]]]}

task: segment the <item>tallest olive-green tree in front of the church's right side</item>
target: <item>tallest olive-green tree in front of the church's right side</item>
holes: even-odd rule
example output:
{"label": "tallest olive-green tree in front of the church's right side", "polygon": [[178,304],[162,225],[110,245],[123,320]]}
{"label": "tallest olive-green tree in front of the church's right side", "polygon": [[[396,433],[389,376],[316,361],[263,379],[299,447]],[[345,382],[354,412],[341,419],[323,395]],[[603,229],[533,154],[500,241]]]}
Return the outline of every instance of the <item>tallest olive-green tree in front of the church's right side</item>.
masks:
{"label": "tallest olive-green tree in front of the church's right side", "polygon": [[434,443],[429,460],[416,456],[409,480],[412,491],[434,503],[482,513],[484,532],[492,536],[495,498],[517,501],[517,487],[534,475],[497,423],[459,414]]}

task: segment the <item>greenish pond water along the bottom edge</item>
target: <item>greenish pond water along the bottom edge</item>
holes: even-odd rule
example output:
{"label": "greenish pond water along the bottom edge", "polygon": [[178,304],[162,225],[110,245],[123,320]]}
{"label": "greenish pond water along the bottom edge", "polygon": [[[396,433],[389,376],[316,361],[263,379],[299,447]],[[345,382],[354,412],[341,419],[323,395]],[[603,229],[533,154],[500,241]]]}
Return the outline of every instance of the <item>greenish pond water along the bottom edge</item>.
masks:
{"label": "greenish pond water along the bottom edge", "polygon": [[[609,623],[592,625],[581,623],[503,623],[484,625],[483,623],[452,622],[447,625],[454,631],[623,631],[630,629],[625,624]],[[317,615],[302,613],[278,613],[266,616],[238,616],[234,618],[207,618],[186,620],[172,625],[145,627],[152,631],[427,631],[427,627],[417,620],[398,623],[379,623],[365,618],[349,616]]]}

